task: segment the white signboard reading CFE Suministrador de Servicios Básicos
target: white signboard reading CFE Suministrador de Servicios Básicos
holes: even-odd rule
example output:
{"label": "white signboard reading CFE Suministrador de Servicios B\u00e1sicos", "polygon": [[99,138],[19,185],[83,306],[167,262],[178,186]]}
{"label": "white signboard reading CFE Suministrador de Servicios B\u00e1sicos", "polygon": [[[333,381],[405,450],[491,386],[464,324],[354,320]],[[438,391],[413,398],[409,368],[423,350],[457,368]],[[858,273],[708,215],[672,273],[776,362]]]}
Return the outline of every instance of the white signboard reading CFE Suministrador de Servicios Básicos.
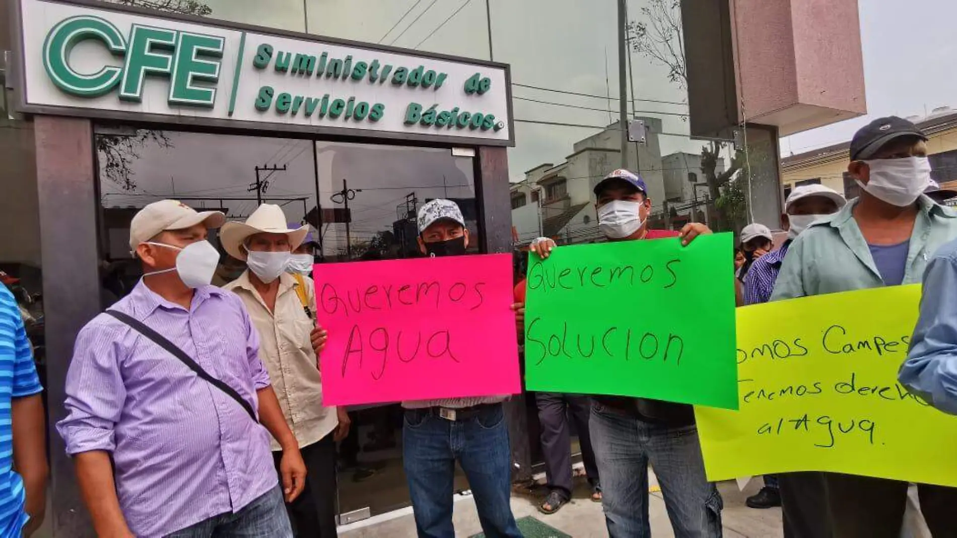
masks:
{"label": "white signboard reading CFE Suministrador de Servicios B\u00e1sicos", "polygon": [[19,9],[26,113],[514,144],[504,64],[85,3]]}

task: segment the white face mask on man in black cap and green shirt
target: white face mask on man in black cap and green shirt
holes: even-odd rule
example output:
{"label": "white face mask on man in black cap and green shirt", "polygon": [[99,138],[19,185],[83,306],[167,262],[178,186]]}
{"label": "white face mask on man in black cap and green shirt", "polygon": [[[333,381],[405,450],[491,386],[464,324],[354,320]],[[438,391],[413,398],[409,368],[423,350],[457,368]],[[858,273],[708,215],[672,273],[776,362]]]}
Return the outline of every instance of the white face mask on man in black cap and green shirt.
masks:
{"label": "white face mask on man in black cap and green shirt", "polygon": [[868,194],[891,205],[906,207],[920,198],[930,184],[930,161],[926,157],[863,161],[870,168],[870,181],[857,184]]}

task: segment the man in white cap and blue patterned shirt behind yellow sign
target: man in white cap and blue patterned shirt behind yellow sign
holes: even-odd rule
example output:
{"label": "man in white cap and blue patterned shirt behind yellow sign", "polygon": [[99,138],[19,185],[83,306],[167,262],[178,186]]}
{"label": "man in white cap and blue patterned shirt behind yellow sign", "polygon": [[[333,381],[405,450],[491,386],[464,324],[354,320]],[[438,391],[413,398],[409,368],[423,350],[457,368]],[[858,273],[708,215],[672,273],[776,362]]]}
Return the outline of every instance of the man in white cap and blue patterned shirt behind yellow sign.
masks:
{"label": "man in white cap and blue patterned shirt behind yellow sign", "polygon": [[[788,240],[777,250],[761,256],[751,264],[745,279],[745,304],[767,303],[774,291],[774,281],[788,254],[788,247],[795,237],[811,223],[832,215],[844,206],[844,197],[834,189],[820,184],[803,185],[794,188],[784,204],[781,215],[781,227],[788,230]],[[765,475],[765,486],[761,491],[748,497],[745,504],[751,508],[771,508],[781,506],[781,492],[777,477]]]}

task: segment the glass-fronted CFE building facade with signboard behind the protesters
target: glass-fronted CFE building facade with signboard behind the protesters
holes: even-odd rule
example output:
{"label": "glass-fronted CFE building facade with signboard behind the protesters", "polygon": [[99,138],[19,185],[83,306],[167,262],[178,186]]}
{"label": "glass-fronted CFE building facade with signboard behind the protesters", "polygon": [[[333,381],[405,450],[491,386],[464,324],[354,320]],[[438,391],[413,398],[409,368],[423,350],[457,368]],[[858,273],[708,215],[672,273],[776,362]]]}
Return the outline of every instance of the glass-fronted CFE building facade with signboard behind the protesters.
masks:
{"label": "glass-fronted CFE building facade with signboard behind the protesters", "polygon": [[[129,220],[156,200],[237,220],[260,203],[280,204],[289,222],[315,228],[319,261],[335,263],[413,255],[415,211],[451,198],[477,239],[472,250],[508,252],[537,234],[597,238],[591,188],[621,166],[649,183],[656,226],[676,226],[683,213],[664,205],[679,196],[673,161],[689,156],[689,178],[706,146],[720,175],[750,163],[740,210],[770,219],[781,204],[778,136],[862,113],[862,74],[857,84],[847,68],[860,54],[857,28],[845,19],[841,32],[824,33],[826,43],[809,43],[820,21],[807,8],[818,3],[628,0],[619,17],[614,2],[578,0],[0,1],[0,223],[8,230],[0,269],[21,279],[42,320],[31,337],[50,424],[64,414],[79,328],[140,277],[125,247]],[[857,2],[830,0],[828,9],[856,12]],[[784,11],[788,37],[777,34],[775,54],[763,54],[761,21]],[[111,41],[63,37],[66,47],[51,50],[69,52],[48,54],[43,43],[57,25],[91,13],[111,21]],[[172,60],[168,70],[125,74],[118,58],[137,21],[169,39],[189,36],[204,61],[182,54],[181,75]],[[620,57],[619,23],[628,28]],[[673,46],[655,49],[661,43]],[[841,53],[800,56],[816,57],[819,73],[842,68],[834,91],[820,91],[826,76],[782,89],[754,75],[777,73],[781,58],[812,46]],[[374,60],[392,67],[389,85],[374,79],[386,76]],[[788,80],[805,69],[787,67]],[[457,108],[456,119],[466,111],[469,119],[436,124],[433,103],[436,117]],[[829,114],[813,113],[821,110]],[[625,130],[635,138],[623,146]],[[733,184],[701,181],[690,192],[681,183],[681,200],[703,200],[707,190],[711,203]],[[704,212],[712,227],[729,229],[730,219]],[[534,404],[520,396],[509,405],[525,478],[538,460],[526,414]],[[344,524],[409,505],[395,411],[355,410],[359,438],[348,450],[358,464],[339,481]],[[72,463],[55,430],[49,438],[53,535],[90,536]],[[467,488],[458,476],[456,489]]]}

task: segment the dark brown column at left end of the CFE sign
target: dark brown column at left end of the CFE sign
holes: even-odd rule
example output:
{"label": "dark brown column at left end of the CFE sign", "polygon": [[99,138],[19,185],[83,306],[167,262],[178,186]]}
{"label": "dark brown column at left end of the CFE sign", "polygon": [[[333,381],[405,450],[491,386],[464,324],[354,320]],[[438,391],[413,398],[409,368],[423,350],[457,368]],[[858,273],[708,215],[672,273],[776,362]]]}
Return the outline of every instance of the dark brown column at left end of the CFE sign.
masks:
{"label": "dark brown column at left end of the CFE sign", "polygon": [[56,433],[64,417],[64,383],[80,328],[100,312],[97,185],[89,119],[37,116],[36,184],[43,260],[52,510],[56,537],[93,537],[73,463]]}

